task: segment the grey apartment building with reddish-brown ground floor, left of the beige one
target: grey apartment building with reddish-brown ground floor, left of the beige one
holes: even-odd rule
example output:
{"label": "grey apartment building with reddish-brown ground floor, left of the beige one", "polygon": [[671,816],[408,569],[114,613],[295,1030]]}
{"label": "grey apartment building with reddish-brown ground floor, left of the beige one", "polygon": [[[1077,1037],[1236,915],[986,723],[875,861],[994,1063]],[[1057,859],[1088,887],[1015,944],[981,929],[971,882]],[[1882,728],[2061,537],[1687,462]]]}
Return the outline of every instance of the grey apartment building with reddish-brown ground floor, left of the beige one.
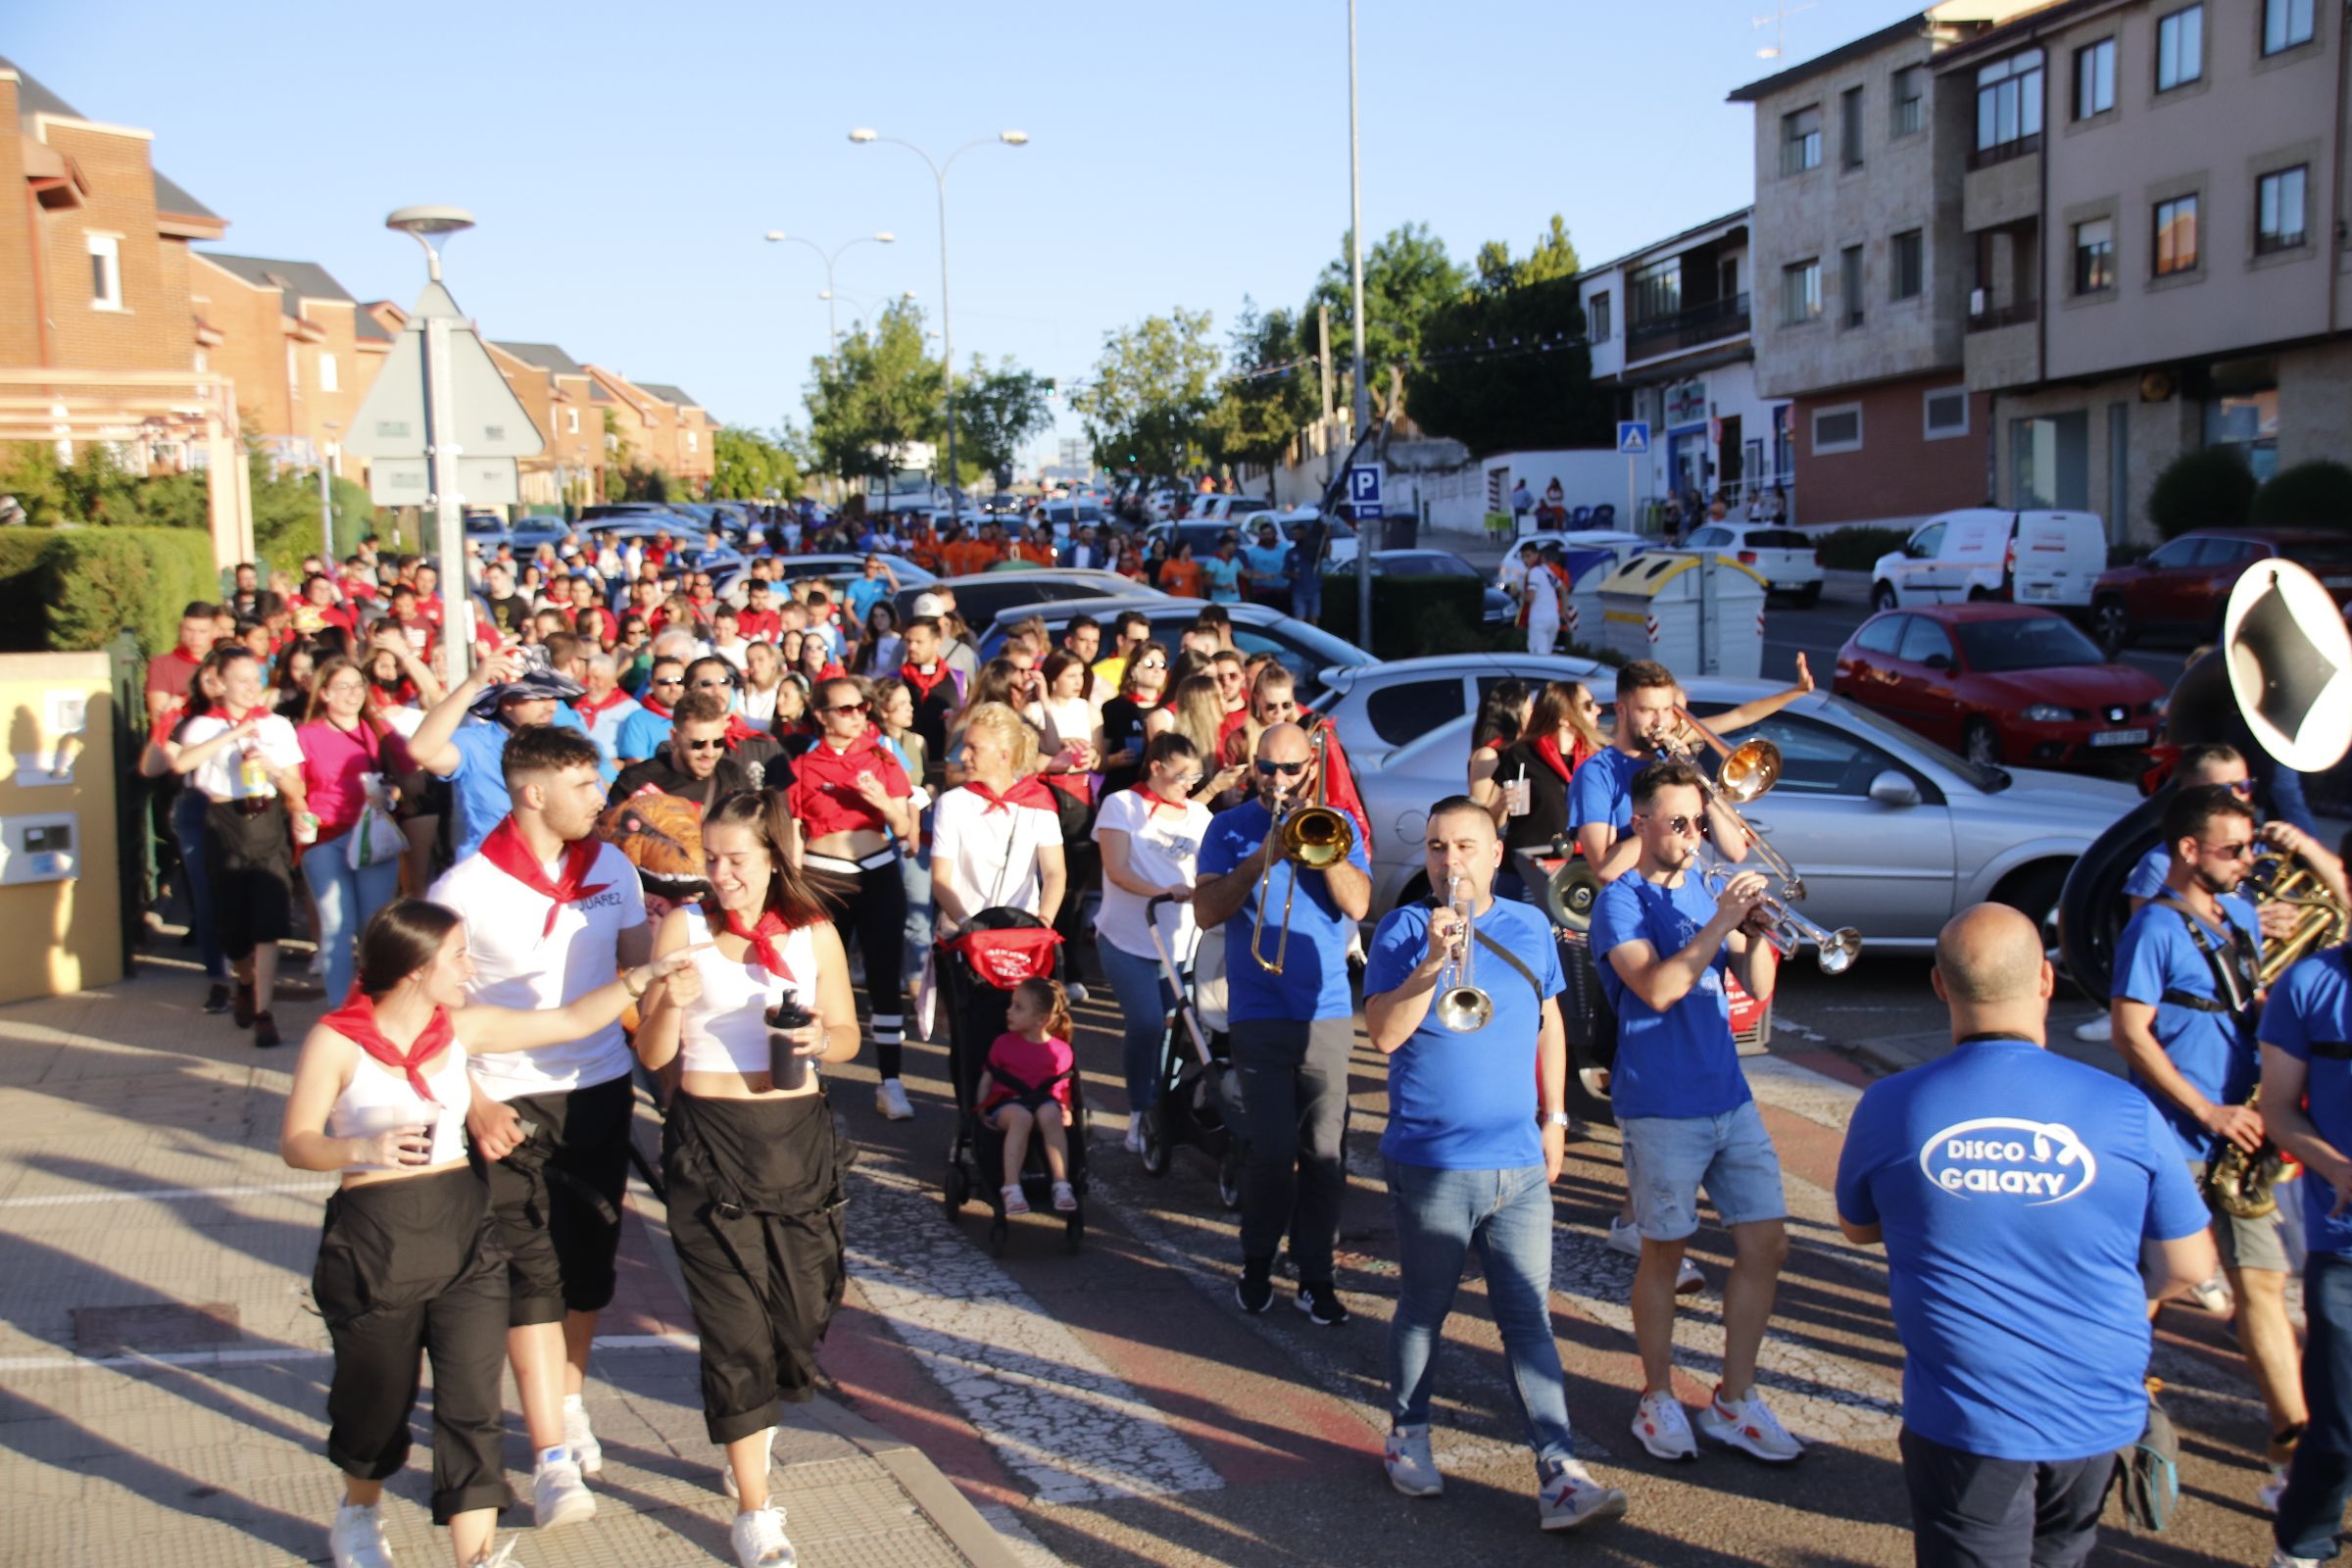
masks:
{"label": "grey apartment building with reddish-brown ground floor, left of the beige one", "polygon": [[1962,364],[1966,108],[1931,61],[2030,0],[1947,0],[1731,94],[1755,108],[1757,390],[1792,404],[1799,522],[1907,520],[1990,494]]}

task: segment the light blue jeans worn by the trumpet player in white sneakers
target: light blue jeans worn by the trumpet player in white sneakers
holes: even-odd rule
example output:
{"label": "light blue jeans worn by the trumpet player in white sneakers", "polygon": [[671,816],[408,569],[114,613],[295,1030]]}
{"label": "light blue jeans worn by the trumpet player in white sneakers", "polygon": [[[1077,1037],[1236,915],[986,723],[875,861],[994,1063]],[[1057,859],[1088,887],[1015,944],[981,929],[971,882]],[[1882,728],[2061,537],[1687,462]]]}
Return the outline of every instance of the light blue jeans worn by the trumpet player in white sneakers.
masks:
{"label": "light blue jeans worn by the trumpet player in white sneakers", "polygon": [[1397,1316],[1388,1324],[1390,1420],[1399,1427],[1430,1420],[1439,1335],[1475,1246],[1510,1361],[1510,1387],[1526,1420],[1526,1446],[1538,1465],[1576,1458],[1569,1387],[1552,1340],[1552,1185],[1543,1166],[1437,1171],[1395,1159],[1383,1164],[1397,1222]]}

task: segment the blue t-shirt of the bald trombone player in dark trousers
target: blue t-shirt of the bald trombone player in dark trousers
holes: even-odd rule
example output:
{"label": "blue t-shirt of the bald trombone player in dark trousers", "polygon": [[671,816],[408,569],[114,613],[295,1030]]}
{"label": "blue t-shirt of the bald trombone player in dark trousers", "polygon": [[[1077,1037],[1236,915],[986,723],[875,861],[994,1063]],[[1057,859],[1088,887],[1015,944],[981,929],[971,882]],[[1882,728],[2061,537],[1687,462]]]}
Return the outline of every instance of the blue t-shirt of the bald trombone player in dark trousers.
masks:
{"label": "blue t-shirt of the bald trombone player in dark trousers", "polygon": [[[1265,802],[1242,802],[1230,811],[1209,818],[1209,832],[1200,842],[1200,877],[1223,877],[1247,860],[1272,830],[1272,813]],[[1364,839],[1357,835],[1348,849],[1348,865],[1371,875],[1364,860]],[[1291,898],[1291,882],[1298,896]],[[1265,907],[1272,926],[1265,931],[1265,957],[1275,957],[1282,945],[1282,905],[1291,903],[1291,947],[1284,954],[1282,973],[1268,973],[1249,957],[1251,938],[1258,929],[1258,891],[1265,891]],[[1275,865],[1275,875],[1249,884],[1242,907],[1225,922],[1225,1001],[1235,1020],[1287,1018],[1308,1023],[1315,1018],[1348,1018],[1355,1013],[1355,997],[1348,994],[1348,933],[1355,926],[1336,903],[1322,872],[1298,872],[1296,863]]]}

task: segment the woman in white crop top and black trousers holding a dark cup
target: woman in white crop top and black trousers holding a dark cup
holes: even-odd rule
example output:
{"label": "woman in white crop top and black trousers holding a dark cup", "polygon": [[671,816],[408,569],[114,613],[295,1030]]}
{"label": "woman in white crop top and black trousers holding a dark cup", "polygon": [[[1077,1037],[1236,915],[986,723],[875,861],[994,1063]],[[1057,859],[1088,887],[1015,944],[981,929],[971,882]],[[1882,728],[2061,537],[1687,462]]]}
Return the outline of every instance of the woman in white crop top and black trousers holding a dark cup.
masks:
{"label": "woman in white crop top and black trousers holding a dark cup", "polygon": [[[790,835],[781,795],[729,795],[703,818],[715,907],[673,910],[654,952],[708,947],[637,1030],[637,1060],[682,1067],[661,1166],[701,1335],[703,1427],[727,1448],[741,1563],[790,1561],[767,1488],[774,1410],[814,1394],[816,1342],[842,1298],[833,1110],[807,1063],[851,1060],[858,1011],[842,938],[786,858]],[[809,1020],[771,1030],[769,1009],[786,999]]]}

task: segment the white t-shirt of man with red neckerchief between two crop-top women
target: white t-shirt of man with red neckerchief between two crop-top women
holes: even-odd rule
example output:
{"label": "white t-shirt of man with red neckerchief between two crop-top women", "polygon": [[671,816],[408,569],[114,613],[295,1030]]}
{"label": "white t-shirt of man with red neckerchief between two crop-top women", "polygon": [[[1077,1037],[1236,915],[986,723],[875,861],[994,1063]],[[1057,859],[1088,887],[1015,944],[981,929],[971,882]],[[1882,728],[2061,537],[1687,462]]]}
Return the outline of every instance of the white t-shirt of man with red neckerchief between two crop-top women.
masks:
{"label": "white t-shirt of man with red neckerchief between two crop-top women", "polygon": [[[557,856],[546,867],[553,882],[562,872]],[[588,882],[604,891],[555,912],[555,931],[546,931],[548,898],[522,886],[482,856],[466,856],[426,891],[437,905],[466,919],[466,954],[473,959],[468,1001],[513,1009],[569,1006],[612,985],[619,973],[623,931],[644,924],[644,884],[612,844],[597,844]],[[475,1056],[473,1081],[492,1100],[595,1088],[626,1077],[635,1058],[619,1020],[586,1039],[541,1046],[536,1051],[496,1051]]]}

